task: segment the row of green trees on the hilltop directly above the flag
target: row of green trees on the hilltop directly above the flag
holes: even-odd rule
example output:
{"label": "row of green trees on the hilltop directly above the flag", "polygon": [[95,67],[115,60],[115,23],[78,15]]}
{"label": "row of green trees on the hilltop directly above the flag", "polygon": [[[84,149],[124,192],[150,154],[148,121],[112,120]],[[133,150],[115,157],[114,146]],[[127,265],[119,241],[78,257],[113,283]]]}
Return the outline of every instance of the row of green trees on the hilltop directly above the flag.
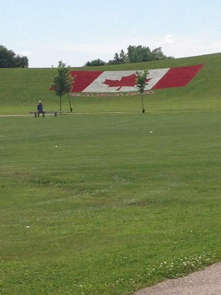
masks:
{"label": "row of green trees on the hilltop directly above the flag", "polygon": [[98,65],[119,65],[125,63],[142,62],[142,61],[157,61],[161,59],[174,58],[173,56],[166,56],[162,52],[162,47],[158,47],[150,50],[147,46],[142,45],[129,45],[127,53],[121,49],[120,53],[115,53],[114,58],[108,62],[101,59],[95,59],[93,61],[87,61],[85,67],[98,66]]}

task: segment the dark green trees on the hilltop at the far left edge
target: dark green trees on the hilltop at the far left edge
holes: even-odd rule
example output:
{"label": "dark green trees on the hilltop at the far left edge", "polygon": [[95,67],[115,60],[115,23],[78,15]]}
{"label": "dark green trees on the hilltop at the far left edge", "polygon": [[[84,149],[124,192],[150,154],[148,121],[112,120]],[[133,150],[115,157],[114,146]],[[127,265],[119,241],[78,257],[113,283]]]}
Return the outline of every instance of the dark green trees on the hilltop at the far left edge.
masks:
{"label": "dark green trees on the hilltop at the far left edge", "polygon": [[0,68],[28,68],[29,60],[26,56],[16,55],[13,50],[8,50],[0,45]]}

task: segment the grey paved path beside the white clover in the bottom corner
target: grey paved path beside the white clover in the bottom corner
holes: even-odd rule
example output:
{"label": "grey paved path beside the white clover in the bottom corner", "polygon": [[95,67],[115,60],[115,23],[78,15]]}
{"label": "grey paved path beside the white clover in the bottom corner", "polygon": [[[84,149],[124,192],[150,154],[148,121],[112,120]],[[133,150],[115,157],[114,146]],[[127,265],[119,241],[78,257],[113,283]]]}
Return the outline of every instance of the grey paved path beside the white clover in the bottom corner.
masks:
{"label": "grey paved path beside the white clover in the bottom corner", "polygon": [[221,262],[186,277],[139,290],[134,295],[221,295]]}

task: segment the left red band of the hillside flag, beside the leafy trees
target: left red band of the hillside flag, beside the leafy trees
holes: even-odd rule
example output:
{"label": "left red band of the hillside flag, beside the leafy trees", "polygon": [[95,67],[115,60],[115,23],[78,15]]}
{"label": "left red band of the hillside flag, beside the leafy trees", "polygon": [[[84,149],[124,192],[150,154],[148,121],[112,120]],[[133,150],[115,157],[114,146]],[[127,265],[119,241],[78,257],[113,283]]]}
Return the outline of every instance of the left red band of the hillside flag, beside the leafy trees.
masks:
{"label": "left red band of the hillside flag, beside the leafy trees", "polygon": [[81,92],[89,86],[103,71],[72,71],[72,77],[76,75],[72,85],[72,92]]}

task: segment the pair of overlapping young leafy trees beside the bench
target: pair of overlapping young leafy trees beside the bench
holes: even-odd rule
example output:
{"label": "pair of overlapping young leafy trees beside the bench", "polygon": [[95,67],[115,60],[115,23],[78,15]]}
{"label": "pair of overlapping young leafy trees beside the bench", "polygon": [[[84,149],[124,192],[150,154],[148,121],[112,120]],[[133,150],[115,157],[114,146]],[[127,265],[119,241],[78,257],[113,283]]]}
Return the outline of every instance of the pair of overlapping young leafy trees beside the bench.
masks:
{"label": "pair of overlapping young leafy trees beside the bench", "polygon": [[[61,97],[69,93],[72,89],[72,84],[74,83],[74,79],[76,78],[76,75],[74,77],[71,76],[70,73],[71,66],[66,66],[65,63],[62,61],[58,62],[57,68],[54,68],[52,66],[51,73],[52,73],[52,87],[55,91],[55,94],[60,96],[60,111],[61,111]],[[69,103],[71,108],[71,101],[69,96]],[[72,112],[72,108],[71,108]]]}

